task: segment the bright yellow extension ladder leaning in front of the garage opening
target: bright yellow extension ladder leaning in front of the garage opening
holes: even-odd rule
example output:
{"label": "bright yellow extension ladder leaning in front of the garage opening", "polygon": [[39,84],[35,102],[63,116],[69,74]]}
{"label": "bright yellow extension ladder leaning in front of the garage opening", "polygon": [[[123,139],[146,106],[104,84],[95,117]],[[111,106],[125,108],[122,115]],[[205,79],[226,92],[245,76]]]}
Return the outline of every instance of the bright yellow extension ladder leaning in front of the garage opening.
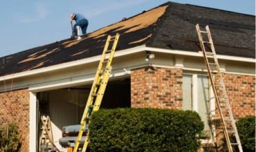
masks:
{"label": "bright yellow extension ladder leaning in front of the garage opening", "polygon": [[[80,122],[81,128],[79,134],[77,136],[77,140],[75,142],[75,147],[73,152],[77,152],[78,146],[80,144],[81,137],[83,133],[86,134],[86,139],[84,141],[84,146],[82,151],[86,151],[86,148],[89,144],[89,130],[84,128],[88,128],[88,124],[90,123],[91,115],[94,111],[98,111],[100,108],[100,104],[102,102],[102,97],[104,95],[104,91],[107,87],[107,82],[109,81],[109,75],[111,73],[111,62],[113,59],[113,55],[115,54],[116,46],[118,44],[119,34],[111,37],[110,35],[107,37],[106,44],[103,49],[102,57],[100,59],[100,64],[98,66],[98,70],[95,74],[95,78],[93,81],[93,85],[91,86],[91,91],[84,108],[84,114],[82,115],[82,120]],[[113,45],[111,50],[108,50],[109,44],[113,41]],[[109,58],[106,59],[106,54],[109,53]],[[105,66],[104,66],[105,65]]]}

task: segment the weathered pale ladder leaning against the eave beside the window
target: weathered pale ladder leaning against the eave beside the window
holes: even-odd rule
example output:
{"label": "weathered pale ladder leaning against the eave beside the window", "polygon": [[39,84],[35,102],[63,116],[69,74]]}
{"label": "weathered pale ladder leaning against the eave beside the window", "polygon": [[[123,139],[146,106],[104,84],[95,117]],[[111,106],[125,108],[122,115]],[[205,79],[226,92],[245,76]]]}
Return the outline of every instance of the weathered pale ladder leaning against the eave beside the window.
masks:
{"label": "weathered pale ladder leaning against the eave beside the window", "polygon": [[[237,133],[237,127],[235,125],[232,109],[228,101],[226,87],[223,82],[221,70],[219,68],[219,61],[217,59],[209,26],[205,26],[205,30],[200,30],[199,24],[196,24],[196,31],[199,37],[201,51],[203,53],[203,59],[208,70],[212,91],[217,103],[217,109],[219,111],[221,126],[223,128],[223,133],[228,145],[228,151],[232,152],[232,147],[235,148],[234,146],[238,146],[239,151],[242,152],[243,149],[241,147],[241,142]],[[208,41],[204,41],[203,38],[207,38]],[[205,50],[205,48],[209,49]],[[234,134],[236,142],[231,142],[230,136]]]}

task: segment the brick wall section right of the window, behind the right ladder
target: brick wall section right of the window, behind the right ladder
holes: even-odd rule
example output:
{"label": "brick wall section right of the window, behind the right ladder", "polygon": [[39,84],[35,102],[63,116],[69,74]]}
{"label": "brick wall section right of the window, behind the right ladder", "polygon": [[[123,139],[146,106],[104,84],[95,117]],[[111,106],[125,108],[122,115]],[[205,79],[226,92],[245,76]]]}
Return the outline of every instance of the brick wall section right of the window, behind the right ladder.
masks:
{"label": "brick wall section right of the window, behind the right ladder", "polygon": [[[239,117],[255,115],[255,76],[223,74],[222,77],[235,120],[238,120]],[[219,89],[219,92],[221,93],[221,89]],[[221,104],[223,103],[224,100],[221,101]],[[227,115],[226,113],[228,111],[223,112],[223,115]],[[220,117],[219,111],[216,115]],[[229,126],[231,124],[228,124],[228,128]],[[217,143],[219,145],[222,143],[222,137],[223,130],[219,124],[217,126]]]}

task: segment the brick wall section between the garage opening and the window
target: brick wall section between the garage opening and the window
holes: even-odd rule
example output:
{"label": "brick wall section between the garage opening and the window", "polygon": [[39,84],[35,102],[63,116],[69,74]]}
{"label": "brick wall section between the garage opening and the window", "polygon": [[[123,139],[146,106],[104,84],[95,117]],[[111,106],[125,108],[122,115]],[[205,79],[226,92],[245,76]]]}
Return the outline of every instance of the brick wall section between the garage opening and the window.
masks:
{"label": "brick wall section between the garage opening and the window", "polygon": [[146,67],[131,71],[131,107],[182,109],[182,70]]}

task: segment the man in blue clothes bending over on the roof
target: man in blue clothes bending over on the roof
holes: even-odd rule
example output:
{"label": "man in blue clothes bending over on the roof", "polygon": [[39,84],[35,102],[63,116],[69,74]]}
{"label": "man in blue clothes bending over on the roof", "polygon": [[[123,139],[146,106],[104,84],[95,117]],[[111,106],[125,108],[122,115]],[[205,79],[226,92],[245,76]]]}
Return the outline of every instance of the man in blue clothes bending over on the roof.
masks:
{"label": "man in blue clothes bending over on the roof", "polygon": [[84,15],[74,12],[71,15],[71,23],[72,21],[75,21],[75,24],[73,26],[73,32],[75,36],[77,36],[77,26],[80,26],[83,35],[86,34],[86,29],[88,27],[89,22],[88,19],[84,17]]}

